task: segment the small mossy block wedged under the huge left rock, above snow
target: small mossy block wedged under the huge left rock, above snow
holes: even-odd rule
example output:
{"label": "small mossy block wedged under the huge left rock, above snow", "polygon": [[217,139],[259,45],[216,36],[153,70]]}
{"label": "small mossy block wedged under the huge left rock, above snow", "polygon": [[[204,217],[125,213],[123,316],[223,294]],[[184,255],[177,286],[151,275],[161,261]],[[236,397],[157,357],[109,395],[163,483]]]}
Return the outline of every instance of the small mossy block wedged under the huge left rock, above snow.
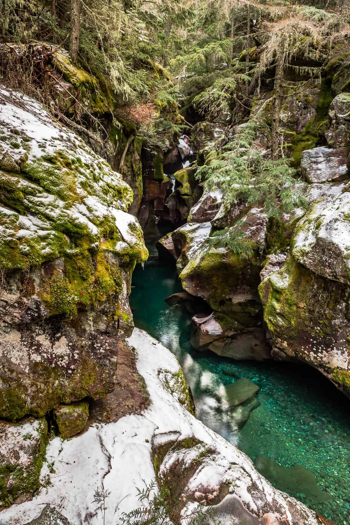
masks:
{"label": "small mossy block wedged under the huge left rock, above snow", "polygon": [[62,439],[79,434],[89,417],[89,403],[80,401],[61,405],[54,410],[54,419]]}

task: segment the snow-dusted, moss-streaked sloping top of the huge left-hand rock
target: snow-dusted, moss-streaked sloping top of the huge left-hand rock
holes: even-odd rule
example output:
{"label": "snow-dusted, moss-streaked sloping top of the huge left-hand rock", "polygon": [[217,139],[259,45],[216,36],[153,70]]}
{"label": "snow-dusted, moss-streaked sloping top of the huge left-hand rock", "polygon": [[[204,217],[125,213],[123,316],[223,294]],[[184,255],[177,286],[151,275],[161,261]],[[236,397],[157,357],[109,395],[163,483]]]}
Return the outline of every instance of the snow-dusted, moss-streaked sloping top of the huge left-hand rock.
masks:
{"label": "snow-dusted, moss-streaked sloping top of the huge left-hand rock", "polygon": [[[33,245],[39,244],[42,262],[57,257],[57,245],[66,244],[62,234],[87,235],[93,244],[115,231],[141,254],[141,229],[135,222],[130,227],[125,213],[132,190],[121,175],[40,103],[1,87],[0,101],[0,176],[6,190],[1,243],[13,239],[30,262],[38,258]],[[9,216],[8,207],[17,213]]]}

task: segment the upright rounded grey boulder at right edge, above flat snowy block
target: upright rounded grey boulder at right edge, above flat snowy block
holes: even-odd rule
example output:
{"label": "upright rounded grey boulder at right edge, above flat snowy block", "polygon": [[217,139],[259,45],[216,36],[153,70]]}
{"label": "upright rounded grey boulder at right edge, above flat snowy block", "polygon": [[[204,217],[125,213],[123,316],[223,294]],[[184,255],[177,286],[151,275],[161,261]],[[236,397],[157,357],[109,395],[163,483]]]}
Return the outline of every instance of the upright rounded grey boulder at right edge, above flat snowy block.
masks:
{"label": "upright rounded grey boulder at right edge, above flat snowy block", "polygon": [[330,129],[325,132],[327,142],[333,148],[350,146],[350,93],[340,93],[328,110]]}

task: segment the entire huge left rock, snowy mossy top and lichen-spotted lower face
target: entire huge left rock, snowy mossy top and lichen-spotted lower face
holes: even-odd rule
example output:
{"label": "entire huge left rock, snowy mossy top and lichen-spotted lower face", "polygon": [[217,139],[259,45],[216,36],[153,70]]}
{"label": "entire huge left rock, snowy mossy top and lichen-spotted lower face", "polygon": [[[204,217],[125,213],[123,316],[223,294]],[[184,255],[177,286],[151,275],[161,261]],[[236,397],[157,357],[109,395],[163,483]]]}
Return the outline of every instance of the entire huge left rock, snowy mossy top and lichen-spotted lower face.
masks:
{"label": "entire huge left rock, snowy mossy top and lichen-spotted lower face", "polygon": [[34,100],[0,97],[0,416],[18,419],[113,390],[147,250],[121,176]]}

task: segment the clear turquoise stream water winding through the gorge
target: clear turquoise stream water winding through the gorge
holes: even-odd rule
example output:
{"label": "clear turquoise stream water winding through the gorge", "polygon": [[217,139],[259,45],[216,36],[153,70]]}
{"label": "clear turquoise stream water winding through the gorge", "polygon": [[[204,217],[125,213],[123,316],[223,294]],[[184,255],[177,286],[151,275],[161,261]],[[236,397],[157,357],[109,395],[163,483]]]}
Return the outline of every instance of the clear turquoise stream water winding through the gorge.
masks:
{"label": "clear turquoise stream water winding through the gorge", "polygon": [[[232,361],[213,353],[195,352],[190,345],[190,317],[164,299],[182,291],[174,267],[158,260],[153,243],[144,269],[133,274],[130,296],[135,325],[161,341],[178,358],[192,388],[196,414],[243,450],[252,460],[264,454],[283,467],[301,465],[313,472],[331,501],[289,492],[337,525],[350,525],[350,402],[321,374],[290,363]],[[234,371],[260,386],[261,406],[240,432],[230,415],[217,410],[220,388],[234,381]],[[272,480],[271,480],[272,481]]]}

